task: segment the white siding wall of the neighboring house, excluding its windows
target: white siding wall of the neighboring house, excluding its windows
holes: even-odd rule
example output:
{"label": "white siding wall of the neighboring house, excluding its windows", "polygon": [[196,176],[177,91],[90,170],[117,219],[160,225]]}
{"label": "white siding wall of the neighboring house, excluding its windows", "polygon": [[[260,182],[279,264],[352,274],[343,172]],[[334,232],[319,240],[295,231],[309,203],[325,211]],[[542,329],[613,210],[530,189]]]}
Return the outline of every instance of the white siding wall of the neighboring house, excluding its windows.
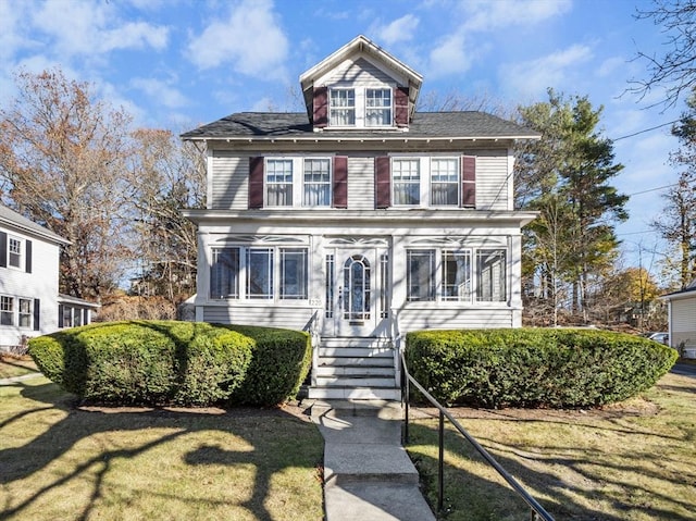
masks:
{"label": "white siding wall of the neighboring house, excluding its windows", "polygon": [[[0,325],[0,346],[15,346],[22,335],[28,337],[53,333],[58,330],[58,270],[59,247],[39,238],[2,228],[10,235],[32,241],[32,273],[24,270],[0,268],[0,295],[14,297],[15,324]],[[24,258],[22,259],[24,263]],[[17,298],[39,299],[39,331],[21,328],[17,325]],[[33,322],[33,321],[32,321]]]}

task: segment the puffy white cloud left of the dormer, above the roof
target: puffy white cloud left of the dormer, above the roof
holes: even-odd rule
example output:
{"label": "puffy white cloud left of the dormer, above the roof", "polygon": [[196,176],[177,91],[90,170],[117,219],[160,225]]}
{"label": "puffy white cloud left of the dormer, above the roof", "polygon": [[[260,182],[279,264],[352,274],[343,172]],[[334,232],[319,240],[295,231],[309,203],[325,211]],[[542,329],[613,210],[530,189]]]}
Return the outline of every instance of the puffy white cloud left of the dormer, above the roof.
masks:
{"label": "puffy white cloud left of the dormer, above the roof", "polygon": [[226,20],[211,23],[188,46],[199,69],[231,64],[236,72],[265,79],[284,75],[288,40],[270,0],[246,0]]}

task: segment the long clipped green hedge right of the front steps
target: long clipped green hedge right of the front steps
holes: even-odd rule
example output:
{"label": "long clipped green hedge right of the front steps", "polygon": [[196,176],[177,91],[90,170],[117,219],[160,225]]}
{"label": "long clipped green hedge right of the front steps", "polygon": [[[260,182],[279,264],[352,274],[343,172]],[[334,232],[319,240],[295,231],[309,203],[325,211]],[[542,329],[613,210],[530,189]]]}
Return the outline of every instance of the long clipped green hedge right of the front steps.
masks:
{"label": "long clipped green hedge right of the front steps", "polygon": [[594,330],[423,331],[407,336],[411,375],[443,404],[594,407],[650,388],[676,361],[647,338]]}

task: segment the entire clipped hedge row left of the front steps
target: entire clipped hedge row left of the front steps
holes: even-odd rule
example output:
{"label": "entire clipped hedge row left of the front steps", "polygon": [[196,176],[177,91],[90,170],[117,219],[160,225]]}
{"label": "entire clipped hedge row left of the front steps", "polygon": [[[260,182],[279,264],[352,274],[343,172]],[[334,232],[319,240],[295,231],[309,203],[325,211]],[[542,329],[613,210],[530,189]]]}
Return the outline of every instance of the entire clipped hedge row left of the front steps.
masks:
{"label": "entire clipped hedge row left of the front steps", "polygon": [[195,322],[90,324],[29,340],[39,370],[94,404],[282,402],[309,370],[304,333]]}

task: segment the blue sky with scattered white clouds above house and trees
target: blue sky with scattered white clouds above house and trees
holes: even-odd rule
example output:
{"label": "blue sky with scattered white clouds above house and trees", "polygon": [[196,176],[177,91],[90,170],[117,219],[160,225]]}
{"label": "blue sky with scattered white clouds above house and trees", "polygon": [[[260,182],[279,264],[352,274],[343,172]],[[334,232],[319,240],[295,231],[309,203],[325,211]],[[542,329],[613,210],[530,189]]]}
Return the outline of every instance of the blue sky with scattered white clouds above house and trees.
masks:
{"label": "blue sky with scattered white clouds above house and trees", "polygon": [[[636,7],[595,0],[0,0],[0,107],[13,74],[60,66],[123,106],[137,126],[190,129],[247,110],[301,110],[299,75],[362,34],[424,76],[423,94],[456,92],[514,108],[546,89],[604,106],[604,135],[625,165],[631,195],[618,227],[627,264],[663,248],[648,223],[673,183],[667,164],[679,117],[662,92],[624,94],[646,77],[637,51],[661,54],[666,37]],[[633,137],[626,137],[632,134]]]}

